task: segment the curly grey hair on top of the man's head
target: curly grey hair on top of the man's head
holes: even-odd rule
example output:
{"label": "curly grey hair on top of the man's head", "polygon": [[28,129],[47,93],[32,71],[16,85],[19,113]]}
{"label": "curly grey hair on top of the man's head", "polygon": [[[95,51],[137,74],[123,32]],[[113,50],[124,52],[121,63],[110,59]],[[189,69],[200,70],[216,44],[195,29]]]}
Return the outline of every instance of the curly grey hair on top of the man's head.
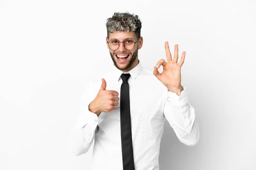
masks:
{"label": "curly grey hair on top of the man's head", "polygon": [[107,19],[107,34],[115,31],[134,31],[137,38],[140,37],[140,29],[142,27],[141,21],[138,15],[130,14],[129,12],[120,13],[115,12],[111,18]]}

